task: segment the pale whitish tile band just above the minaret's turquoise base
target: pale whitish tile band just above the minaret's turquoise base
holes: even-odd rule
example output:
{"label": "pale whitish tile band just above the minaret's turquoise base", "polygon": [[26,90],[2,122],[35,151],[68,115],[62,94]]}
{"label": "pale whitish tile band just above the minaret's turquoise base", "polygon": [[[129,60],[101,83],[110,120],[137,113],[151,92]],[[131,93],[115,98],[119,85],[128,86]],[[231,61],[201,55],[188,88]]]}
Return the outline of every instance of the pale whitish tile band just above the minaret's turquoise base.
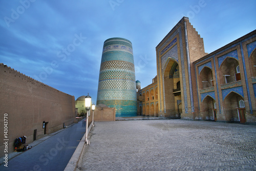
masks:
{"label": "pale whitish tile band just above the minaret's turquoise base", "polygon": [[98,90],[97,100],[137,100],[135,90]]}

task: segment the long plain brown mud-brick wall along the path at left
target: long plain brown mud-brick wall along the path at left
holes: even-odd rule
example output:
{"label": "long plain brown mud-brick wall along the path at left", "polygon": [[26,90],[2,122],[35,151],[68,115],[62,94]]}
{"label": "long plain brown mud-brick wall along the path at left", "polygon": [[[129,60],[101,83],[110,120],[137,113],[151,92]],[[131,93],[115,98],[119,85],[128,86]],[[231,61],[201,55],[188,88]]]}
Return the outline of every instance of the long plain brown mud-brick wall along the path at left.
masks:
{"label": "long plain brown mud-brick wall along the path at left", "polygon": [[[21,74],[3,63],[0,63],[0,94],[0,157],[6,154],[3,144],[6,141],[8,153],[11,153],[14,151],[14,140],[18,137],[27,136],[26,143],[31,143],[34,137],[39,139],[45,133],[63,129],[63,123],[74,123],[74,96]],[[44,121],[45,129],[42,127]],[[8,127],[6,135],[4,123]]]}

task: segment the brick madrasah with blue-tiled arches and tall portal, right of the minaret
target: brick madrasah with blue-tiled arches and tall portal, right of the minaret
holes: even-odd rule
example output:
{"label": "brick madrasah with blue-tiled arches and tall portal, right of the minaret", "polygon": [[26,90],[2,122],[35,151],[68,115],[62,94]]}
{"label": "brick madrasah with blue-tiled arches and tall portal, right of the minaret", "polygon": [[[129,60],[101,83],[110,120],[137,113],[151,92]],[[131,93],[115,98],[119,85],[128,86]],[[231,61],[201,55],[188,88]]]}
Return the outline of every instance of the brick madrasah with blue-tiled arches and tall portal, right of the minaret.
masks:
{"label": "brick madrasah with blue-tiled arches and tall portal, right of the minaret", "polygon": [[255,123],[255,49],[256,30],[207,54],[183,17],[156,47],[157,77],[138,90],[138,115]]}

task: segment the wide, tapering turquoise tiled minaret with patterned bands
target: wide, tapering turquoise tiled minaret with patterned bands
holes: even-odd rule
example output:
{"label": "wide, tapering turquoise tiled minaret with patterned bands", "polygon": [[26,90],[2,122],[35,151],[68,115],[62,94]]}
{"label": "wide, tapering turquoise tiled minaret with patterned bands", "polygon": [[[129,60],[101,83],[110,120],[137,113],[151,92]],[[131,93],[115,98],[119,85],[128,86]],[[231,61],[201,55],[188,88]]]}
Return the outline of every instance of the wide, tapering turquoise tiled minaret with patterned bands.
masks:
{"label": "wide, tapering turquoise tiled minaret with patterned bands", "polygon": [[133,47],[125,38],[104,41],[97,104],[116,108],[116,117],[137,116]]}

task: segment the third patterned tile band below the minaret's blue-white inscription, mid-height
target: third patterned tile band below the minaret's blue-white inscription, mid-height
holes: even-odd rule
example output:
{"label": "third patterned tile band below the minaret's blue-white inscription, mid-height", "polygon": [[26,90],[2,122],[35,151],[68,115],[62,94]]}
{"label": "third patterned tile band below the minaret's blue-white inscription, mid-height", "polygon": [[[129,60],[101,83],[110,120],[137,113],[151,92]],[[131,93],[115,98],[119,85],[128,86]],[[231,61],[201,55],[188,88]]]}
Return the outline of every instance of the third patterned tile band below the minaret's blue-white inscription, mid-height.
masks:
{"label": "third patterned tile band below the minaret's blue-white inscription, mid-height", "polygon": [[136,83],[132,80],[109,79],[99,81],[98,90],[103,89],[127,89],[136,91]]}

